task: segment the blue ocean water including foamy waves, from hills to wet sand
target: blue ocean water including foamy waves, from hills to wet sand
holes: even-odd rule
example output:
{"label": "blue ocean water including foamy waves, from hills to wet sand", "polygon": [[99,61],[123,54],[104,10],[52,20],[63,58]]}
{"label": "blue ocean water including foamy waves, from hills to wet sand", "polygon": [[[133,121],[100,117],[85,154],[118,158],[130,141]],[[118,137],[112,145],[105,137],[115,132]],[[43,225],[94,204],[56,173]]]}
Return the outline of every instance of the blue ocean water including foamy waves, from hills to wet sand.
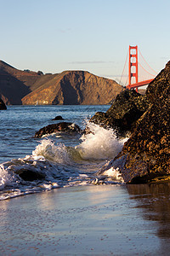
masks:
{"label": "blue ocean water including foamy waves, from hills to wet sand", "polygon": [[[0,112],[0,200],[61,187],[123,183],[117,170],[99,172],[122,149],[113,130],[90,124],[88,119],[110,106],[9,106]],[[43,126],[64,121],[89,126],[92,133],[55,133],[40,139]],[[26,181],[20,172],[36,172]],[[100,173],[100,174],[99,174]]]}

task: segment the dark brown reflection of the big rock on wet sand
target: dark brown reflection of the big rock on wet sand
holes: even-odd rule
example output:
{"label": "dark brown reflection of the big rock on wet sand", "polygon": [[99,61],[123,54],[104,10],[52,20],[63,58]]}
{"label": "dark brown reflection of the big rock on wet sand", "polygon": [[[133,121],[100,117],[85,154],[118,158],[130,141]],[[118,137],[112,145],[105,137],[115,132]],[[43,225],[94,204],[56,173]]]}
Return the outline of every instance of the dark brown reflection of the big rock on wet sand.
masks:
{"label": "dark brown reflection of the big rock on wet sand", "polygon": [[158,222],[156,235],[170,238],[170,183],[127,185],[127,191],[136,208],[144,209],[142,217]]}

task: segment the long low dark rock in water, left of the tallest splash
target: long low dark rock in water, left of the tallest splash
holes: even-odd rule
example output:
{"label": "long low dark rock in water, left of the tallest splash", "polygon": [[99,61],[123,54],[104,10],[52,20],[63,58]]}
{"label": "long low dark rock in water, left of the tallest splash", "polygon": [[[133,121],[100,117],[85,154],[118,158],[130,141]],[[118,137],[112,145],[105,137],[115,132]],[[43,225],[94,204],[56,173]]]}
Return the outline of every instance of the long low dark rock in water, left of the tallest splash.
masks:
{"label": "long low dark rock in water, left of the tallest splash", "polygon": [[52,124],[43,127],[36,132],[35,137],[42,137],[43,135],[51,134],[54,132],[65,131],[65,132],[79,132],[81,131],[80,127],[76,124],[69,122],[61,122],[59,124]]}

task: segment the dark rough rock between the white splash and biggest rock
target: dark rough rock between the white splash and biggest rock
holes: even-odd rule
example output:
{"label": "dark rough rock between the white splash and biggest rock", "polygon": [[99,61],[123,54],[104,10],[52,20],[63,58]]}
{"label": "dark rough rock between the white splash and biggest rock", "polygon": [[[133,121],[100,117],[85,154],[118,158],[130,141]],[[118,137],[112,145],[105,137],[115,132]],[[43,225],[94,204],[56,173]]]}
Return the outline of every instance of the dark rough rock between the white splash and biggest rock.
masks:
{"label": "dark rough rock between the white splash and biggest rock", "polygon": [[135,122],[149,108],[150,102],[146,96],[135,90],[123,90],[116,96],[111,108],[106,113],[97,112],[90,122],[115,129],[118,134],[131,131]]}

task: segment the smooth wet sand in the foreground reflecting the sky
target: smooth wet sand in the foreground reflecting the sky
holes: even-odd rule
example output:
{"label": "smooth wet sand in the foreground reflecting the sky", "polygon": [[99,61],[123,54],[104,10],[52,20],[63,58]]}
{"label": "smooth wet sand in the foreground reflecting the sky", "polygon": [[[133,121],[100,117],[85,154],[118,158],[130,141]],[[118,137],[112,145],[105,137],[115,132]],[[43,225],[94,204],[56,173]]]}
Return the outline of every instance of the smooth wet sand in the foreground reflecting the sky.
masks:
{"label": "smooth wet sand in the foreground reflecting the sky", "polygon": [[169,185],[104,185],[0,201],[0,254],[168,255],[169,195]]}

